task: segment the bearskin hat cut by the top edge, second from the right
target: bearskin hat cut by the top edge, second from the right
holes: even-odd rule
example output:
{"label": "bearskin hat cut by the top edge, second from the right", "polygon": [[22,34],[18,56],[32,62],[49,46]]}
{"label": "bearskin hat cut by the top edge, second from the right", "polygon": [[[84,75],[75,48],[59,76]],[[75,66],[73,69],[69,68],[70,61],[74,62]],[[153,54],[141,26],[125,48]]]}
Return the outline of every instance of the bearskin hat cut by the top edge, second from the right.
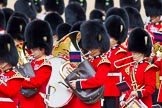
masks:
{"label": "bearskin hat cut by the top edge, second from the right", "polygon": [[130,6],[141,10],[141,0],[120,0],[120,7]]}

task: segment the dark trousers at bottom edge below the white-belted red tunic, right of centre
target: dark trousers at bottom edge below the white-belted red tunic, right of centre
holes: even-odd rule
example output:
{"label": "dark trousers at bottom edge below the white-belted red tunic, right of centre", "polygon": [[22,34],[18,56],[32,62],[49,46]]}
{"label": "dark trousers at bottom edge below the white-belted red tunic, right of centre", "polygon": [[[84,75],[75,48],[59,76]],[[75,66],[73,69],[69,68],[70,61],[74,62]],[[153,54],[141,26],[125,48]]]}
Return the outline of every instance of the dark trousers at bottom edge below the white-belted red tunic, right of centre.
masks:
{"label": "dark trousers at bottom edge below the white-belted red tunic, right of centre", "polygon": [[103,108],[119,108],[119,97],[104,97]]}

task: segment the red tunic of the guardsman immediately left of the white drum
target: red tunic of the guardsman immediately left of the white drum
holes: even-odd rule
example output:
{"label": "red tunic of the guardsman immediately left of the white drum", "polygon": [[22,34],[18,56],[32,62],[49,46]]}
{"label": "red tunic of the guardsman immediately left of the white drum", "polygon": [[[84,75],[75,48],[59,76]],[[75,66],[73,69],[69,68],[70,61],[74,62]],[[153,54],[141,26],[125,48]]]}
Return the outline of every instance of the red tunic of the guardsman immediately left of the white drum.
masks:
{"label": "red tunic of the guardsman immediately left of the white drum", "polygon": [[46,93],[46,86],[49,81],[52,67],[49,63],[45,63],[44,60],[31,62],[31,65],[35,72],[35,77],[30,78],[30,81],[24,80],[22,83],[23,88],[38,88],[39,92],[32,97],[25,97],[20,93],[20,108],[45,108],[43,97],[39,93]]}

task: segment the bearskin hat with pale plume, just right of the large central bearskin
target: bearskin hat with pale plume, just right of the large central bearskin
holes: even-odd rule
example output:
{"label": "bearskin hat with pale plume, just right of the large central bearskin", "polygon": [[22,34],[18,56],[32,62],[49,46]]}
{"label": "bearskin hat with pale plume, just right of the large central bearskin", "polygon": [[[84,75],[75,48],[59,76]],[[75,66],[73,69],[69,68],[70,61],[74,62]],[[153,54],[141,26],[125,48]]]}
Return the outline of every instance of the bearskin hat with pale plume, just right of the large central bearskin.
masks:
{"label": "bearskin hat with pale plume, just right of the large central bearskin", "polygon": [[118,15],[111,15],[105,21],[105,27],[110,37],[118,41],[121,44],[127,38],[127,30],[125,22]]}

